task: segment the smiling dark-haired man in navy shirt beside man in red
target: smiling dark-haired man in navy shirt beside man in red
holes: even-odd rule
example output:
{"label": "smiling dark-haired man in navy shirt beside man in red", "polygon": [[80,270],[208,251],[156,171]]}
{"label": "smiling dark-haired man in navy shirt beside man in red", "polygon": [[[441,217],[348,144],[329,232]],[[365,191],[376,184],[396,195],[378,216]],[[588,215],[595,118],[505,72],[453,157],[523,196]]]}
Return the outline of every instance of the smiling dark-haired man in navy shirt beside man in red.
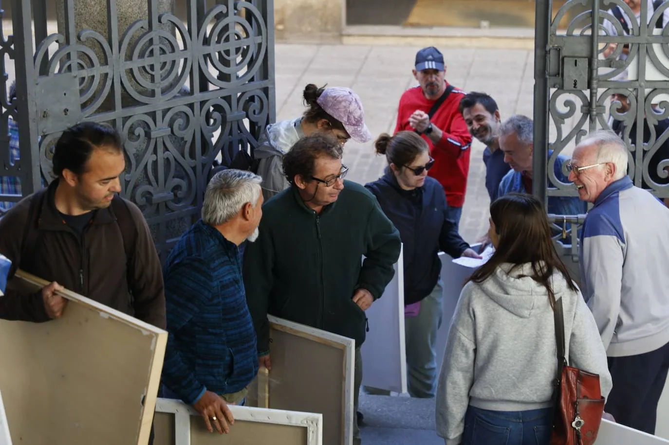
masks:
{"label": "smiling dark-haired man in navy shirt beside man in red", "polygon": [[490,202],[499,196],[499,186],[510,166],[500,150],[500,110],[497,102],[485,93],[470,92],[460,100],[460,113],[469,133],[486,144],[483,163],[486,165],[486,188]]}

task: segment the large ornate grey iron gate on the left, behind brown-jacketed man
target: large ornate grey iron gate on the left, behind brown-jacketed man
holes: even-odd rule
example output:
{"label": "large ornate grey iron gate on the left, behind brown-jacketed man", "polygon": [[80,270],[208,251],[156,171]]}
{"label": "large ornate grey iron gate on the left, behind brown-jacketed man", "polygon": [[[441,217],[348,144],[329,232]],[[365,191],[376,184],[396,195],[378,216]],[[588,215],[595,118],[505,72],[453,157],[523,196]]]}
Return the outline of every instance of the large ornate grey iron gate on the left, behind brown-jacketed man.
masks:
{"label": "large ornate grey iron gate on the left, behind brown-jacketed man", "polygon": [[[111,124],[126,139],[122,194],[142,209],[164,258],[199,217],[212,172],[252,150],[274,122],[273,2],[186,0],[186,21],[174,0],[56,3],[52,34],[47,0],[11,5],[13,35],[0,40],[0,174],[30,194],[52,179],[52,148],[65,128]],[[15,61],[11,101],[5,56]],[[2,136],[8,119],[19,128],[15,163]]]}

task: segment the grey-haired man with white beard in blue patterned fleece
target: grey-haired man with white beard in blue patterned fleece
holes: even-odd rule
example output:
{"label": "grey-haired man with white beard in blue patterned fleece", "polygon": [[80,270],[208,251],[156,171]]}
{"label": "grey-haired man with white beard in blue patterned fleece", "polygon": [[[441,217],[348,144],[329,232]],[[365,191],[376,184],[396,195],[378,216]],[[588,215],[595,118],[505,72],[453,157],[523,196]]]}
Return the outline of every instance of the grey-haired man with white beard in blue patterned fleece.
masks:
{"label": "grey-haired man with white beard in blue patterned fleece", "polygon": [[258,374],[240,245],[258,238],[260,182],[248,171],[215,174],[201,220],[179,239],[165,265],[163,395],[193,405],[209,432],[229,432],[227,404],[244,404]]}

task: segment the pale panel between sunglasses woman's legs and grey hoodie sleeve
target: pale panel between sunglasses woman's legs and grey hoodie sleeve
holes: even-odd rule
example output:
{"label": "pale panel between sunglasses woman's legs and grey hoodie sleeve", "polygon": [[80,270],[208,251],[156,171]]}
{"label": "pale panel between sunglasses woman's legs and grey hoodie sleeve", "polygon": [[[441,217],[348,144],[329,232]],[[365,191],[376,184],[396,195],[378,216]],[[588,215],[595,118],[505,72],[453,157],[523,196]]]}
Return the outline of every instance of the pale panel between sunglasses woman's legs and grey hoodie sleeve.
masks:
{"label": "pale panel between sunglasses woman's legs and grey hoodie sleeve", "polygon": [[[472,245],[472,249],[478,251],[480,245]],[[444,349],[446,349],[446,337],[448,337],[448,329],[451,327],[451,320],[456,311],[456,305],[460,298],[460,291],[462,285],[474,269],[460,266],[453,263],[453,257],[448,253],[440,252],[439,258],[442,260],[442,283],[444,283],[444,316],[442,319],[442,326],[437,331],[437,369],[442,369],[442,361],[444,361]]]}

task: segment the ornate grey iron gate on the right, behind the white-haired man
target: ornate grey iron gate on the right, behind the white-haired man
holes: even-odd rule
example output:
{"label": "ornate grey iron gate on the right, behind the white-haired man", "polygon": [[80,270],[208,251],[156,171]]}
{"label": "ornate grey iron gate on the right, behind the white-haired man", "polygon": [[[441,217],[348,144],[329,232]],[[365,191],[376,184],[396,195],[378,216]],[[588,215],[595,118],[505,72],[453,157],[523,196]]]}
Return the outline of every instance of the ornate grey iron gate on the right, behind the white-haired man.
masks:
{"label": "ornate grey iron gate on the right, behind the white-haired man", "polygon": [[[652,1],[640,3],[639,24],[623,0],[570,0],[555,16],[551,1],[537,0],[533,172],[535,178],[545,180],[535,179],[533,194],[544,201],[549,196],[577,195],[573,184],[555,178],[555,160],[560,154],[569,156],[589,132],[610,129],[611,118],[626,128],[622,136],[630,150],[629,174],[634,184],[649,188],[660,198],[669,196],[669,180],[658,183],[649,176],[656,168],[657,176],[667,178],[663,170],[669,166],[669,160],[650,164],[650,158],[669,137],[667,131],[656,132],[656,124],[669,118],[669,102],[662,102],[669,100],[662,97],[669,93],[669,23],[664,21],[664,27],[656,28],[669,1],[657,9]],[[611,11],[615,6],[633,17],[629,35]],[[577,13],[569,27],[558,29],[561,19],[574,9]],[[616,45],[611,54],[606,53],[609,45],[611,49]],[[626,58],[624,51],[628,52]],[[609,110],[612,94],[625,96],[630,109],[618,113],[616,103]],[[632,124],[644,120],[650,127],[650,140],[644,143],[643,131],[637,131],[634,140],[630,140]],[[554,150],[551,156],[549,150]],[[548,188],[547,180],[554,186]],[[583,215],[549,216],[559,227],[583,222]],[[569,253],[575,259],[577,234],[572,232]]]}

